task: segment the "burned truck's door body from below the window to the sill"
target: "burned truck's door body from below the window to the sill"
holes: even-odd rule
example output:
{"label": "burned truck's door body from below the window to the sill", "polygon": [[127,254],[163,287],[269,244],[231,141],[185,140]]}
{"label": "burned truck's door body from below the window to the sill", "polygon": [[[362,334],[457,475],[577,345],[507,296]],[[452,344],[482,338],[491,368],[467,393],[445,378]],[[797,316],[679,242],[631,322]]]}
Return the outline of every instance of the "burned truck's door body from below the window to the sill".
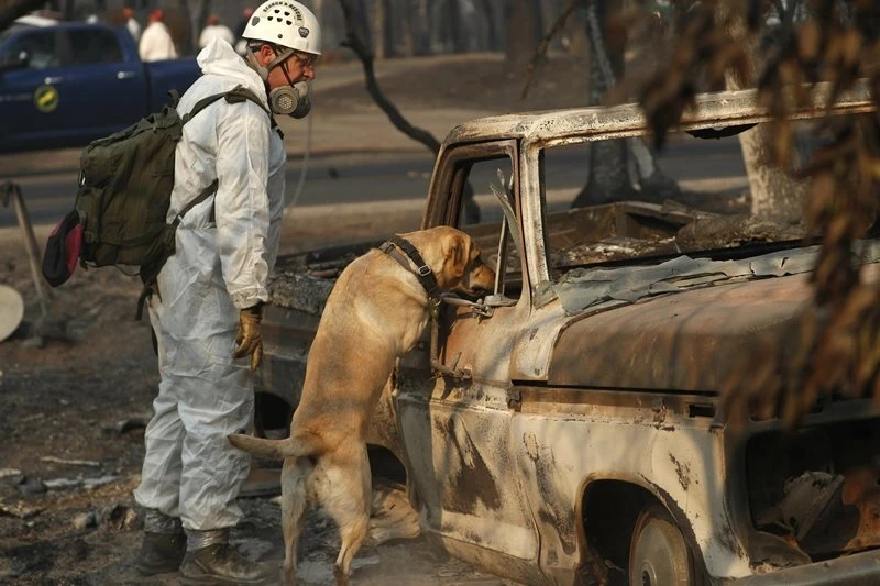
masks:
{"label": "burned truck's door body from below the window to the sill", "polygon": [[[468,379],[406,384],[397,400],[402,436],[426,531],[483,550],[482,556],[535,561],[539,542],[519,484],[510,482],[507,389],[512,347],[528,318],[527,298],[482,319],[449,308],[442,360],[471,373]],[[490,554],[490,552],[493,552]]]}

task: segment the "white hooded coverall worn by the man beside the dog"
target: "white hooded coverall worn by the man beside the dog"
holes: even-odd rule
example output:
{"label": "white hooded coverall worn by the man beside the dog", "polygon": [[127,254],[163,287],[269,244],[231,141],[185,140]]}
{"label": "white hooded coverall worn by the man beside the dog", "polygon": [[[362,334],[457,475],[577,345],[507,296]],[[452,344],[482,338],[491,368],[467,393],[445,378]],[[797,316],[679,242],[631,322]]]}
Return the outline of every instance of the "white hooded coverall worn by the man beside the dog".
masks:
{"label": "white hooded coverall worn by the man beside the dog", "polygon": [[[265,86],[229,43],[198,55],[202,76],[177,106],[243,86],[264,106]],[[139,505],[179,517],[187,530],[232,527],[250,456],[227,435],[253,417],[250,358],[234,360],[239,310],[268,299],[280,235],[286,154],[266,111],[221,99],[184,125],[174,161],[170,222],[215,179],[213,198],[180,221],[175,253],[157,277],[150,320],[162,380],[146,428]]]}

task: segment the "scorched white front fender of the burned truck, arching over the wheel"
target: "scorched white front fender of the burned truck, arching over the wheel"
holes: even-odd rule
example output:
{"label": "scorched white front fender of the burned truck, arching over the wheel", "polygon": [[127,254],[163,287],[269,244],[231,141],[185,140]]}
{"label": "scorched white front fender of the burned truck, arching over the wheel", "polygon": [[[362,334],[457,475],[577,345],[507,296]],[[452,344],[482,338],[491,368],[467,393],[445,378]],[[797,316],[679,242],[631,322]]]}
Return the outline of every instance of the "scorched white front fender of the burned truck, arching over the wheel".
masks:
{"label": "scorched white front fender of the burned truck, arching over the wheel", "polygon": [[578,541],[581,519],[575,511],[594,479],[619,479],[653,494],[702,553],[713,577],[750,573],[748,554],[724,506],[724,436],[711,419],[670,410],[658,422],[653,401],[554,409],[547,397],[539,406],[531,403],[548,390],[524,389],[522,412],[510,428],[517,476],[541,533],[546,574],[571,575],[580,566],[585,544]]}

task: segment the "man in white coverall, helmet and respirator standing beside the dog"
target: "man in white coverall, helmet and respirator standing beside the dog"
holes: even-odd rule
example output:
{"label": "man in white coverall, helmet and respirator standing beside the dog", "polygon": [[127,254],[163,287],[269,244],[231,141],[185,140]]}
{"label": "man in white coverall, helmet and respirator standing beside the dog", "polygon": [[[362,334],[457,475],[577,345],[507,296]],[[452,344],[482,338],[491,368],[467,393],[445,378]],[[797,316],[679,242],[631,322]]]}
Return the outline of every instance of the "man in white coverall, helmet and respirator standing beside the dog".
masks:
{"label": "man in white coverall, helmet and respirator standing beside the dog", "polygon": [[262,584],[272,574],[229,543],[250,456],[227,435],[252,425],[262,305],[280,235],[286,153],[270,111],[308,113],[321,31],[302,4],[270,0],[243,36],[245,58],[219,38],[199,53],[202,76],[177,106],[185,115],[238,87],[260,102],[219,99],[184,125],[168,222],[215,181],[216,194],[183,217],[148,306],[162,380],[134,491],[145,509],[136,566],[144,575],[179,567],[189,583]]}

